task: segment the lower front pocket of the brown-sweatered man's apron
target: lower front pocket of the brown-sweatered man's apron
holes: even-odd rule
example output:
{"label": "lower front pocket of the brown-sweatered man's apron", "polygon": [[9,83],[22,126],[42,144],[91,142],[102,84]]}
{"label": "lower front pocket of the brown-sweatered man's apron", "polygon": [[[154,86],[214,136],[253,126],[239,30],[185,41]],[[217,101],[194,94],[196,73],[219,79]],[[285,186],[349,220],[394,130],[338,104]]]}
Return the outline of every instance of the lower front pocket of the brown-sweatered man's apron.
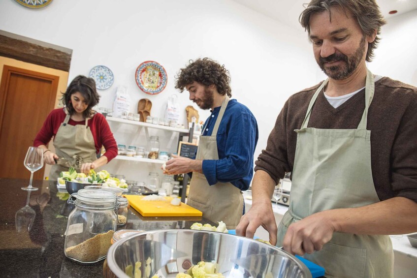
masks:
{"label": "lower front pocket of the brown-sweatered man's apron", "polygon": [[329,278],[365,278],[366,249],[326,243],[304,258],[323,266]]}

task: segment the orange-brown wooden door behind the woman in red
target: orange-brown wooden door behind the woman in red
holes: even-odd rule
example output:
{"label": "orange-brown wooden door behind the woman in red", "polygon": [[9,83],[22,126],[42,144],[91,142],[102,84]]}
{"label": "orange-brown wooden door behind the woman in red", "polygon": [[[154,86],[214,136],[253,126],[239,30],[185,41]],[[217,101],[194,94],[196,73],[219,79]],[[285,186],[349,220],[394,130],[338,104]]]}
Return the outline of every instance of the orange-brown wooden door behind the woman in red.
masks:
{"label": "orange-brown wooden door behind the woman in red", "polygon": [[[58,81],[58,76],[4,65],[0,84],[0,178],[30,178],[23,161],[54,109]],[[43,179],[43,168],[33,174],[33,179]]]}

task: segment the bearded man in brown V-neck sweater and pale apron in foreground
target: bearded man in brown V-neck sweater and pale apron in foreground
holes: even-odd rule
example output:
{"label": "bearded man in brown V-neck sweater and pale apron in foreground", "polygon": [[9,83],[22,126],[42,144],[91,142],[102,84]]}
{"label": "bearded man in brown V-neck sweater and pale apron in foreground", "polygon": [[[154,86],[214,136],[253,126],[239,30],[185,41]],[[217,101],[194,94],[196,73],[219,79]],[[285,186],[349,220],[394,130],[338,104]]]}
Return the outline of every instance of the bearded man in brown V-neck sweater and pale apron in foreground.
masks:
{"label": "bearded man in brown V-neck sweater and pale apron in foreground", "polygon": [[[236,232],[253,237],[262,225],[326,277],[392,277],[386,235],[417,231],[417,88],[366,68],[385,24],[375,0],[312,0],[300,22],[328,80],[278,115]],[[290,205],[277,228],[271,195],[286,172]]]}

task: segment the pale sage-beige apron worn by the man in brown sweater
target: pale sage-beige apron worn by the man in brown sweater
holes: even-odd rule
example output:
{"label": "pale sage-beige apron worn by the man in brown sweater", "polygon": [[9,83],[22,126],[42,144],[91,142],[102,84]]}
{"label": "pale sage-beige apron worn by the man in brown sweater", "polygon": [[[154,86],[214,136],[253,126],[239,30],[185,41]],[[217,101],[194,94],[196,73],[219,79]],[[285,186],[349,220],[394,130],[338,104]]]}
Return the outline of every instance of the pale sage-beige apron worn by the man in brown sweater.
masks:
{"label": "pale sage-beige apron worn by the man in brown sweater", "polygon": [[[372,179],[371,131],[366,130],[368,108],[375,84],[368,70],[365,111],[357,129],[317,129],[307,127],[313,104],[327,84],[314,94],[301,128],[295,130],[297,145],[289,211],[278,226],[282,246],[288,226],[314,213],[355,208],[379,202]],[[323,249],[304,257],[325,268],[326,277],[393,277],[391,240],[388,236],[334,233]]]}

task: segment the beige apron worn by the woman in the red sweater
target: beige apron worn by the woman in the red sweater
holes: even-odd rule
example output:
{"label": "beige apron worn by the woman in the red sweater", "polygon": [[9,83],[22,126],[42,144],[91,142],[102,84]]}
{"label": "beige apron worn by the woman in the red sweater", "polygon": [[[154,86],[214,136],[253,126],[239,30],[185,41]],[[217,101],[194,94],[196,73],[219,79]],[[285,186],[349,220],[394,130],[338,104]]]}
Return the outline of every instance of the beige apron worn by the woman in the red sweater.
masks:
{"label": "beige apron worn by the woman in the red sweater", "polygon": [[[82,163],[93,162],[97,159],[96,146],[93,133],[87,125],[88,119],[86,119],[85,125],[70,125],[68,124],[69,118],[70,115],[67,114],[55,135],[55,153],[60,158],[63,157],[71,161],[79,173]],[[52,165],[49,180],[57,180],[62,171],[68,171],[68,168],[57,164]]]}

